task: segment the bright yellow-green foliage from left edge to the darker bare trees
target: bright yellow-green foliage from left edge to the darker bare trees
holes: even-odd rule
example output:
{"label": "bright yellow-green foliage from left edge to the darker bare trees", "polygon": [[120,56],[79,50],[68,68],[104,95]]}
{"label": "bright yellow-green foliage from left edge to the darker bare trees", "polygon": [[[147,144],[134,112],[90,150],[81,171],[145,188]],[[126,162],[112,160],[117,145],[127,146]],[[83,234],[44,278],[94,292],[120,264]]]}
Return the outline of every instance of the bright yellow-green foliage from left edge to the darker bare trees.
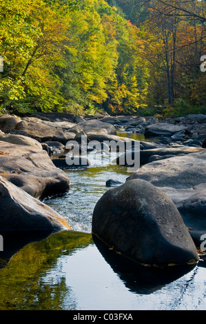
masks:
{"label": "bright yellow-green foliage from left edge to the darker bare trees", "polygon": [[0,7],[1,111],[95,112],[105,104],[132,113],[144,105],[147,72],[136,28],[121,10],[104,0],[2,0]]}

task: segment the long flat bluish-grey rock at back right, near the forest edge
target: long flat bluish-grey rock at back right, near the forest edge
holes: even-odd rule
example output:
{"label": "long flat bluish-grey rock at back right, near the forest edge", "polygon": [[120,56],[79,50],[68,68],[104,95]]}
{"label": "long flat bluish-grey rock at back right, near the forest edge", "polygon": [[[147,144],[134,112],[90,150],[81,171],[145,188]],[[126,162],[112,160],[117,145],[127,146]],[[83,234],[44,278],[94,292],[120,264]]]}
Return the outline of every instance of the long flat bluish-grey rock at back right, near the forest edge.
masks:
{"label": "long flat bluish-grey rock at back right, near the forest edge", "polygon": [[156,123],[145,128],[145,136],[172,136],[177,132],[184,132],[187,136],[191,135],[189,128],[185,125]]}

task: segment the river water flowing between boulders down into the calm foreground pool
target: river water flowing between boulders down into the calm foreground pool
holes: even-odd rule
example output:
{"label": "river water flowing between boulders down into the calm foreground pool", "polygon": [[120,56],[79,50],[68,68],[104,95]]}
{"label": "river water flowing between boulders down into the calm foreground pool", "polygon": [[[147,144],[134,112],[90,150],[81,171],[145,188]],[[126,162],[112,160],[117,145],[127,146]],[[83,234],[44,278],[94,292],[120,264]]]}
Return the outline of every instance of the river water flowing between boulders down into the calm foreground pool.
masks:
{"label": "river water flowing between boulders down into the calm foreground pool", "polygon": [[106,181],[125,182],[130,176],[112,159],[91,155],[89,168],[65,171],[70,192],[44,201],[68,220],[72,231],[13,238],[10,254],[0,263],[0,310],[206,309],[205,261],[157,279],[146,270],[132,272],[94,243],[92,212],[109,189]]}

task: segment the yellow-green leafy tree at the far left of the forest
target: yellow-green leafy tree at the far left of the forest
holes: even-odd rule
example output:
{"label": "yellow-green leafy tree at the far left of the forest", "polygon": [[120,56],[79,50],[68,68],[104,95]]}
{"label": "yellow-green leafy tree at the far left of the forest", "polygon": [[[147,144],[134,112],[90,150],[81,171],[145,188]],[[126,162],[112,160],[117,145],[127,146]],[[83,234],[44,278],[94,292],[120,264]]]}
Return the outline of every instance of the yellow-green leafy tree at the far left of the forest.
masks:
{"label": "yellow-green leafy tree at the far left of the forest", "polygon": [[6,109],[43,110],[62,101],[55,64],[63,64],[68,26],[58,6],[41,0],[1,1],[1,43],[4,72],[1,74],[1,103]]}

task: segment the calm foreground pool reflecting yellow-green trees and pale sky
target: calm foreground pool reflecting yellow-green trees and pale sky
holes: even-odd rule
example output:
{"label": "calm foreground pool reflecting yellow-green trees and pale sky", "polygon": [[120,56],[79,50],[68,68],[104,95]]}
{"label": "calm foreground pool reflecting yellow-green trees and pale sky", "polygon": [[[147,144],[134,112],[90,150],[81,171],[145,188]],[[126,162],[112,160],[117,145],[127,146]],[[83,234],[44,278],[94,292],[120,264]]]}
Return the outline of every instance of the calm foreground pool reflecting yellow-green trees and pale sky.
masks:
{"label": "calm foreground pool reflecting yellow-green trees and pale sky", "polygon": [[91,234],[72,231],[21,247],[0,270],[0,309],[204,309],[205,268],[157,275],[110,252]]}

